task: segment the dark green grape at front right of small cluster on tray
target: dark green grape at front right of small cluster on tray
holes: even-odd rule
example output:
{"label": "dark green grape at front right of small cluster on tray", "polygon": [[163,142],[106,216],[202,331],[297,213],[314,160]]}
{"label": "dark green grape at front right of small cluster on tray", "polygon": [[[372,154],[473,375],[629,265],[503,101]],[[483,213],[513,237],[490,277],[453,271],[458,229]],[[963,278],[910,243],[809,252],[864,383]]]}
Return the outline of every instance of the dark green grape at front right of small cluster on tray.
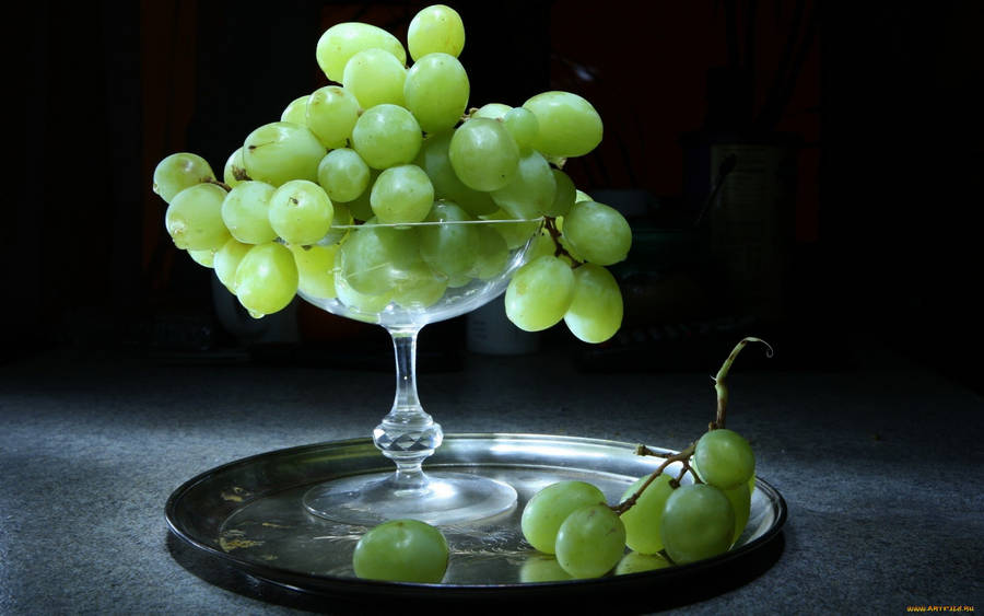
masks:
{"label": "dark green grape at front right of small cluster on tray", "polygon": [[677,565],[711,558],[730,547],[735,511],[714,486],[682,486],[666,499],[659,532],[666,554]]}

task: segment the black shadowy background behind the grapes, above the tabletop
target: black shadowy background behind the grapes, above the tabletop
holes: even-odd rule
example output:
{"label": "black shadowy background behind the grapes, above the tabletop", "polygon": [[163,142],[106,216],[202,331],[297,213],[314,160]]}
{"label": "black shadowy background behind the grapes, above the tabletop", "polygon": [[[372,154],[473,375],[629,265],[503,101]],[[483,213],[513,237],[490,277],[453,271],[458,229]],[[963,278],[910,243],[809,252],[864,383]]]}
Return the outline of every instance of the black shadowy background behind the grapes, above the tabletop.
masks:
{"label": "black shadowy background behind the grapes, above the tabletop", "polygon": [[[214,313],[210,271],[164,232],[154,165],[192,151],[221,173],[253,128],[327,83],[314,60],[320,32],[367,21],[406,40],[425,4],[32,3],[14,62],[26,93],[15,120],[24,170],[0,226],[4,359],[52,347],[189,359],[243,349]],[[655,244],[635,244],[653,249],[634,249],[642,257],[620,270],[628,303],[619,340],[589,349],[560,326],[546,347],[574,349],[585,369],[707,371],[738,337],[768,335],[785,351],[775,367],[850,369],[856,340],[874,338],[980,387],[981,2],[456,9],[471,104],[518,105],[549,89],[585,95],[606,136],[571,163],[571,175],[589,194],[642,196],[633,226],[656,232]],[[743,313],[703,266],[693,221],[707,170],[689,166],[683,146],[728,131],[799,144],[781,228],[778,314]],[[687,232],[689,243],[660,252],[660,231]],[[680,291],[681,279],[696,287]],[[654,293],[663,299],[654,303]],[[386,345],[378,328],[305,306],[297,318],[294,361],[343,363],[350,351]],[[459,322],[430,329],[434,348],[454,356],[462,347]],[[318,352],[331,344],[335,351]],[[254,360],[286,357],[246,346]]]}

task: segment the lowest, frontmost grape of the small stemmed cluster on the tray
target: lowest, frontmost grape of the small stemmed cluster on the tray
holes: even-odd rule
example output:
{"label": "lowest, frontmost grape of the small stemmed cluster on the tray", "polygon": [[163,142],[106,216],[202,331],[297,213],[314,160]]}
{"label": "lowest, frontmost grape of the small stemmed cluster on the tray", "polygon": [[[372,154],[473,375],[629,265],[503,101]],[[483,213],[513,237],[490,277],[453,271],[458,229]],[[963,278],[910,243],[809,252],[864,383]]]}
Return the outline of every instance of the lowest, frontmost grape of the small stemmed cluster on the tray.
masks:
{"label": "lowest, frontmost grape of the small stemmed cluster on the tray", "polygon": [[571,513],[557,532],[557,561],[573,578],[599,578],[625,554],[625,526],[607,504]]}

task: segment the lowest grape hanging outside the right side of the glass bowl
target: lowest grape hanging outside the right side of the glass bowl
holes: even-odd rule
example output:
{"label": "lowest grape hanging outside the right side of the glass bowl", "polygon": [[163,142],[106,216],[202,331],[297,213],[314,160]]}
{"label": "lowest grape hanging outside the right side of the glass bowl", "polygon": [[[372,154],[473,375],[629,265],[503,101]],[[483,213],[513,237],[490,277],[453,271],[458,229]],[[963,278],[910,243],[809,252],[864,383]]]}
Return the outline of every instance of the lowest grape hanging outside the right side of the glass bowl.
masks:
{"label": "lowest grape hanging outside the right side of the glass bowl", "polygon": [[604,342],[622,325],[622,291],[600,265],[586,263],[574,270],[574,299],[564,323],[585,342]]}

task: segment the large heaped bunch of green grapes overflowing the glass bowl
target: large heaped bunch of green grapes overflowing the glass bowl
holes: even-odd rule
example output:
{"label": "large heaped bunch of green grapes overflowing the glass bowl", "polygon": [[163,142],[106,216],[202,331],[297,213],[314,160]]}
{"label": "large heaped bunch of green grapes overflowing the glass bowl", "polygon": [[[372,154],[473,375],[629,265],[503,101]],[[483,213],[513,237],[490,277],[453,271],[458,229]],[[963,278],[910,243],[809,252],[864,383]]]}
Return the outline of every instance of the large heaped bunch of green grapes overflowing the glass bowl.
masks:
{"label": "large heaped bunch of green grapes overflowing the glass bowl", "polygon": [[[175,245],[256,317],[298,290],[373,313],[426,307],[491,278],[542,225],[506,290],[507,316],[526,330],[564,321],[582,340],[610,338],[623,310],[606,268],[632,233],[562,168],[598,146],[600,116],[559,91],[469,107],[464,46],[460,16],[442,4],[413,18],[406,48],[371,24],[329,27],[315,59],[333,83],[246,136],[221,179],[192,153],[160,162],[154,190]],[[468,220],[501,223],[412,224]]]}

